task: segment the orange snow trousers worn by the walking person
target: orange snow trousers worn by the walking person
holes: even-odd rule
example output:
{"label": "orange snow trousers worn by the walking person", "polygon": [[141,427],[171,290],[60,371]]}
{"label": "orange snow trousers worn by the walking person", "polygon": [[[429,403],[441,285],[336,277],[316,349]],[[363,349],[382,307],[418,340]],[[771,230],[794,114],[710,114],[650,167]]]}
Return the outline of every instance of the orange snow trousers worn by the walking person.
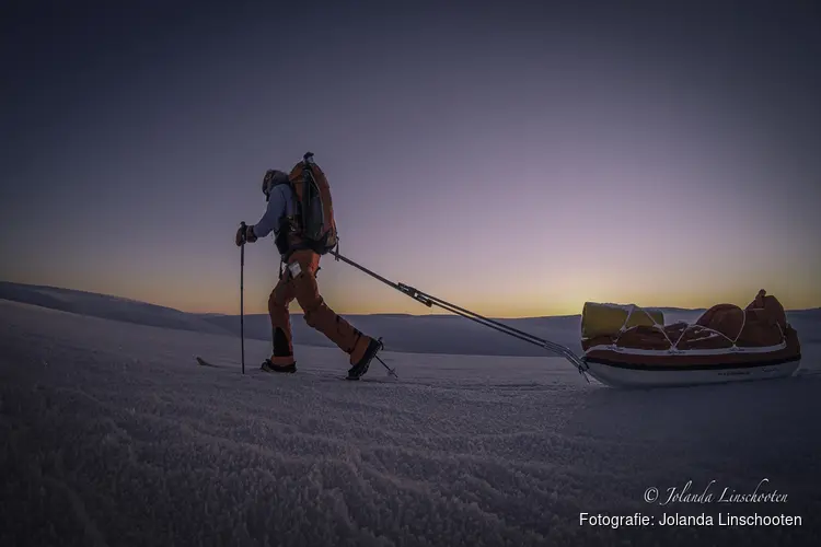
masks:
{"label": "orange snow trousers worn by the walking person", "polygon": [[350,356],[350,364],[359,361],[371,338],[354,328],[347,321],[331,310],[316,284],[320,255],[313,251],[297,251],[268,298],[268,314],[274,331],[275,365],[286,366],[294,362],[291,341],[291,322],[288,305],[297,299],[304,312],[305,323],[325,335],[339,349]]}

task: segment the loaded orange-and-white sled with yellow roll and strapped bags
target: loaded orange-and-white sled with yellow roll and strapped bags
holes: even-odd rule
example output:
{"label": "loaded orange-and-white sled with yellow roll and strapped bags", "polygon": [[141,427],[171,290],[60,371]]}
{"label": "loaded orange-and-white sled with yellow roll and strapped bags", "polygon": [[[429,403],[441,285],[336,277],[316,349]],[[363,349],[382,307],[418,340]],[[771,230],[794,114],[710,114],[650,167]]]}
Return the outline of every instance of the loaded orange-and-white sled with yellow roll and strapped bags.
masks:
{"label": "loaded orange-and-white sled with yellow roll and strapped bags", "polygon": [[718,304],[693,323],[670,325],[658,310],[588,302],[581,347],[586,372],[613,386],[786,377],[801,361],[798,333],[765,291],[743,310]]}

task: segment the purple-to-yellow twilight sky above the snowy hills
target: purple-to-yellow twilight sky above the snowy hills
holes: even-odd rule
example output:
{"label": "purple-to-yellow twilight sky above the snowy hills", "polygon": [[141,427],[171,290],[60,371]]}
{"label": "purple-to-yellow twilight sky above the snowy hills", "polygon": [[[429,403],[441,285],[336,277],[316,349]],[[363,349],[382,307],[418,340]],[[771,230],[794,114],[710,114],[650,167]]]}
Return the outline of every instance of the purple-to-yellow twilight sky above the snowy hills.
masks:
{"label": "purple-to-yellow twilight sky above the snowy hills", "polygon": [[343,254],[479,313],[821,306],[811,2],[439,3],[4,2],[0,279],[238,313],[236,226],[311,150]]}

